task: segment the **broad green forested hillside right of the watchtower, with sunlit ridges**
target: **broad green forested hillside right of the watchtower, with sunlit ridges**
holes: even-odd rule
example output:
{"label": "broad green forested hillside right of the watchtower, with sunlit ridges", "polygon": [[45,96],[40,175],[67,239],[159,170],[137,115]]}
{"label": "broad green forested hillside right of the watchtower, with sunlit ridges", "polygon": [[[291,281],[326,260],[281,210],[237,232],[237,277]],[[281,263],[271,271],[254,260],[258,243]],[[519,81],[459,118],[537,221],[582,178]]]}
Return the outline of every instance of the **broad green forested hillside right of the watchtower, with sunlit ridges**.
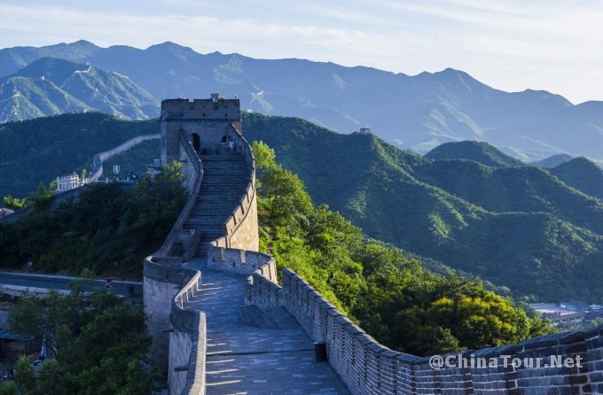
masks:
{"label": "broad green forested hillside right of the watchtower, with sunlit ridges", "polygon": [[424,159],[291,118],[247,114],[243,130],[369,236],[517,294],[603,300],[603,202],[543,169]]}

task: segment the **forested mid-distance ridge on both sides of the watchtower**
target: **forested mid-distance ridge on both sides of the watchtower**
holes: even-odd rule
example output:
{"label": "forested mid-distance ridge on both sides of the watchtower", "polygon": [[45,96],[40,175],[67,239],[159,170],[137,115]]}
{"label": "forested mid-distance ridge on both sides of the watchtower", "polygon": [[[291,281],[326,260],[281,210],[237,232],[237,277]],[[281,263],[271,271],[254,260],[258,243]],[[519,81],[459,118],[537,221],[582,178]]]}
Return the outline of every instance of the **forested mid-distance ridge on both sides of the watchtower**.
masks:
{"label": "forested mid-distance ridge on both sides of the watchtower", "polygon": [[[268,143],[317,204],[367,236],[516,296],[603,302],[603,171],[589,159],[545,169],[474,142],[421,157],[378,136],[259,113],[244,113],[243,130],[249,141]],[[98,151],[156,131],[152,120],[101,113],[4,123],[0,192],[23,197],[37,182],[85,167]],[[139,161],[156,154],[146,150],[152,157]]]}

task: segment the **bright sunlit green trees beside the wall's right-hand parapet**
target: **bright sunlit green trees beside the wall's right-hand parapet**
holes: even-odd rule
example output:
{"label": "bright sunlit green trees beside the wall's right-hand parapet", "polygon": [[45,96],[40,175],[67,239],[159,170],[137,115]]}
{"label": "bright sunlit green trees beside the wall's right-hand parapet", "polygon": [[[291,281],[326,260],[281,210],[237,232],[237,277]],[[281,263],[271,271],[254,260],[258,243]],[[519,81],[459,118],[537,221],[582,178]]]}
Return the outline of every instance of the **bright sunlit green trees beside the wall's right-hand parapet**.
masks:
{"label": "bright sunlit green trees beside the wall's right-hand parapet", "polygon": [[482,283],[428,272],[399,249],[366,239],[326,205],[314,205],[303,182],[254,143],[261,249],[290,267],[380,342],[413,354],[516,343],[546,333]]}

